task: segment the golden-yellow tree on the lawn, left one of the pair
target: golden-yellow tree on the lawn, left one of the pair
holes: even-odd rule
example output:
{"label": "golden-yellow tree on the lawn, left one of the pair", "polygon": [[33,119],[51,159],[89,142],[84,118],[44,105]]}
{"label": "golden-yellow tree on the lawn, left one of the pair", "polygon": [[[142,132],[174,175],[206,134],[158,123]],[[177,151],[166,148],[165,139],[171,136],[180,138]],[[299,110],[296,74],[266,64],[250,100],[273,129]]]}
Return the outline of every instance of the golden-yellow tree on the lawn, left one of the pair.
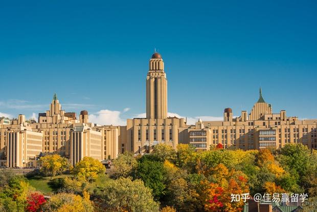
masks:
{"label": "golden-yellow tree on the lawn, left one of the pair", "polygon": [[40,171],[46,176],[56,176],[70,168],[70,162],[60,155],[47,155],[39,160]]}

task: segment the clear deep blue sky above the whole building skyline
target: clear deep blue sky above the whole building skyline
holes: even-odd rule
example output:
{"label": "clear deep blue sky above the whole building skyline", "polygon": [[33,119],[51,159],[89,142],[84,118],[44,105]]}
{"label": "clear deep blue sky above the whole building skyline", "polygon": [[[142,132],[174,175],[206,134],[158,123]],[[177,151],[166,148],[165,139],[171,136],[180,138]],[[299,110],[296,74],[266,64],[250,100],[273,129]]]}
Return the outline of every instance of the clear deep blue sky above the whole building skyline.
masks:
{"label": "clear deep blue sky above the whole building skyline", "polygon": [[262,86],[274,112],[317,118],[316,20],[315,1],[5,1],[0,113],[31,117],[56,92],[66,111],[121,124],[145,112],[156,48],[171,113],[240,115]]}

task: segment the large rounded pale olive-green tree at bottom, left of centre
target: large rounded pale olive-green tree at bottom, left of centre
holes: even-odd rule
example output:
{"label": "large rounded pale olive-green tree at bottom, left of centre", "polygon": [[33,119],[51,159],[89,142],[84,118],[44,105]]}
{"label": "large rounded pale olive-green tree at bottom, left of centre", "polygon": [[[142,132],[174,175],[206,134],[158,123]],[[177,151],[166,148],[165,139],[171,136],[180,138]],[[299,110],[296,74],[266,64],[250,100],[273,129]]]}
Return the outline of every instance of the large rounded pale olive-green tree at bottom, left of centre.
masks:
{"label": "large rounded pale olive-green tree at bottom, left of centre", "polygon": [[151,190],[141,180],[120,178],[108,181],[100,196],[100,210],[117,212],[156,212],[159,204],[153,200]]}

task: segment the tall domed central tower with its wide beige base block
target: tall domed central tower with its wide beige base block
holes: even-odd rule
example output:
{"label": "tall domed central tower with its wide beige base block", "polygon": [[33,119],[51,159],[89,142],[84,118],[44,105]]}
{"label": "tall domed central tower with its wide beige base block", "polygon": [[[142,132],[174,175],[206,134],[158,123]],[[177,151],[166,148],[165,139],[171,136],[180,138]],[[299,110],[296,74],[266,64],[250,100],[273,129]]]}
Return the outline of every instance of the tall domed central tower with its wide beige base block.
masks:
{"label": "tall domed central tower with its wide beige base block", "polygon": [[166,143],[176,149],[188,140],[184,118],[167,115],[167,78],[162,56],[155,52],[146,77],[146,118],[127,119],[126,146],[134,154],[150,153],[153,146]]}

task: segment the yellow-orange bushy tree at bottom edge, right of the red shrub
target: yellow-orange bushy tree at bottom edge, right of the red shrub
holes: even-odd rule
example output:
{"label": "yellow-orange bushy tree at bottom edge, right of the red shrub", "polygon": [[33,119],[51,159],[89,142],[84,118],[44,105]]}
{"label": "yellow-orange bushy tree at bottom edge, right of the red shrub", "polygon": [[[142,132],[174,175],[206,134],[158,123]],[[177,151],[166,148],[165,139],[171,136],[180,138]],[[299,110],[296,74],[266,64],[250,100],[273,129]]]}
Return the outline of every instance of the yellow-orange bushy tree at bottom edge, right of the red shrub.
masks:
{"label": "yellow-orange bushy tree at bottom edge, right of the red shrub", "polygon": [[43,211],[48,212],[92,212],[94,207],[91,201],[79,195],[70,193],[58,193],[51,196],[43,206]]}

